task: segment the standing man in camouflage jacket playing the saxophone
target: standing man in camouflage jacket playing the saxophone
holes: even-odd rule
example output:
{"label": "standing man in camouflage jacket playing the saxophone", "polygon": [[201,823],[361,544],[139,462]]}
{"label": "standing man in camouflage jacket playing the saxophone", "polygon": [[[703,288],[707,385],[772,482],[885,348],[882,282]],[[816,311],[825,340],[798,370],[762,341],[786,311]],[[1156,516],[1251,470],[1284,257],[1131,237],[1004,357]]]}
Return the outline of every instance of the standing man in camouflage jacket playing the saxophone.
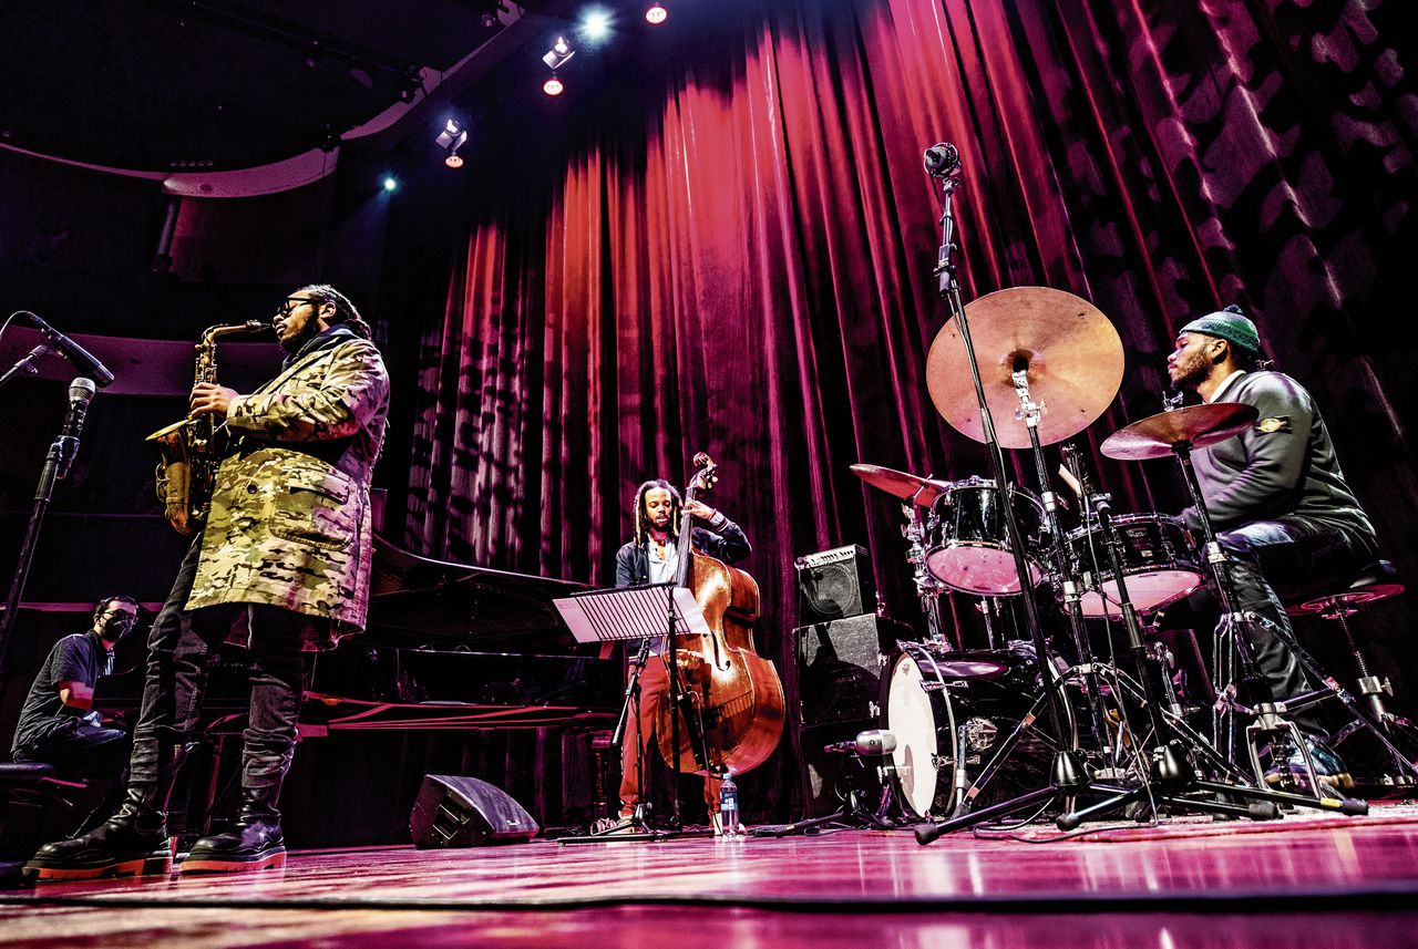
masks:
{"label": "standing man in camouflage jacket playing the saxophone", "polygon": [[34,880],[172,871],[167,796],[196,728],[206,659],[234,629],[251,660],[241,809],[227,831],[193,846],[182,870],[285,864],[278,800],[295,749],[301,653],[364,623],[369,487],[389,375],[369,326],[332,286],[294,292],[272,326],[286,353],[275,378],[247,395],[217,382],[191,392],[193,416],[216,418],[231,438],[206,524],[149,636],[126,797],[92,833],[41,847],[26,867]]}

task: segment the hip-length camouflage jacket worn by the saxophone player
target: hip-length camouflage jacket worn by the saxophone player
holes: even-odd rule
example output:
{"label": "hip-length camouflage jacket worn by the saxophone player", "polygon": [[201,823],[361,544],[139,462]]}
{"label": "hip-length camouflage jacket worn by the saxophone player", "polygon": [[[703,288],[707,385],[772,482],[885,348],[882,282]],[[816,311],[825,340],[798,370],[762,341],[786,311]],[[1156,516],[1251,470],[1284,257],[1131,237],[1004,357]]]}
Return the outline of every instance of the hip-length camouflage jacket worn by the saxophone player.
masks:
{"label": "hip-length camouflage jacket worn by the saxophone player", "polygon": [[231,399],[238,436],[217,469],[187,609],[269,603],[315,623],[316,644],[364,627],[369,484],[384,441],[389,374],[353,333]]}

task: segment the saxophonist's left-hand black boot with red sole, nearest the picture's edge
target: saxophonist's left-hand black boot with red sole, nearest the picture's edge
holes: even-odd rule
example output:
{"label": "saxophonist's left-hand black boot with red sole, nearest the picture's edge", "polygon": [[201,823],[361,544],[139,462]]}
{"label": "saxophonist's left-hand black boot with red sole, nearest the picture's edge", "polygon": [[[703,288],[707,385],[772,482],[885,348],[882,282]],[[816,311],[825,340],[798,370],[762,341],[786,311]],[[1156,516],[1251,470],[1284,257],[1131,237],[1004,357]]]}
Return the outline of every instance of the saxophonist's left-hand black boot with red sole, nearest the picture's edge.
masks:
{"label": "saxophonist's left-hand black boot with red sole, nearest the picture's edge", "polygon": [[40,847],[24,865],[31,882],[150,877],[173,871],[173,841],[166,814],[152,806],[152,795],[129,788],[123,806],[95,830]]}

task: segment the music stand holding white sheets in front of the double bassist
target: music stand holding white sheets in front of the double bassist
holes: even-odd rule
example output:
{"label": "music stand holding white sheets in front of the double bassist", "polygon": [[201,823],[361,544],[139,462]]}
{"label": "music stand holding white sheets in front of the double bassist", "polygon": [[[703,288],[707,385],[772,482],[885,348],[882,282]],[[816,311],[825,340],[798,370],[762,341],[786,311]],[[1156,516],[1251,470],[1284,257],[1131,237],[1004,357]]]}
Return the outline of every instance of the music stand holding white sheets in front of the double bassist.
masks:
{"label": "music stand holding white sheets in front of the double bassist", "polygon": [[[645,586],[617,586],[613,589],[597,589],[584,593],[573,593],[562,599],[553,599],[552,605],[562,615],[562,620],[571,630],[571,636],[576,637],[579,643],[614,643],[625,642],[631,639],[641,640],[640,656],[631,663],[630,681],[625,684],[625,697],[621,703],[620,721],[615,724],[615,735],[611,744],[620,746],[624,738],[624,728],[627,718],[630,715],[631,703],[640,701],[640,674],[645,667],[645,661],[649,660],[649,640],[651,639],[669,639],[668,633],[674,629],[674,636],[710,636],[709,625],[705,622],[703,612],[699,609],[699,603],[695,601],[692,591],[676,586],[675,584],[649,584]],[[666,608],[668,605],[668,608]],[[668,609],[668,613],[666,613]],[[651,636],[645,635],[647,629],[657,629]],[[674,643],[666,642],[666,652],[661,654],[662,660],[672,660],[674,657]],[[669,676],[671,687],[674,687],[675,676]],[[675,698],[671,697],[674,714],[679,714],[679,707]],[[640,746],[635,751],[635,759],[640,765],[640,782],[641,782],[641,800],[645,797],[645,732],[638,731]],[[678,772],[676,772],[678,778]],[[676,788],[678,800],[678,788]],[[678,807],[676,807],[678,813]],[[587,844],[587,843],[615,843],[615,841],[630,841],[630,840],[671,840],[675,837],[691,836],[678,827],[675,830],[649,830],[644,827],[642,833],[634,834],[620,834],[617,831],[624,830],[628,826],[640,824],[644,827],[644,822],[638,819],[631,820],[630,824],[617,824],[613,830],[601,831],[598,834],[590,834],[583,837],[562,837],[559,843],[563,844]],[[709,836],[712,831],[705,831],[702,836]],[[700,836],[700,834],[693,834]]]}

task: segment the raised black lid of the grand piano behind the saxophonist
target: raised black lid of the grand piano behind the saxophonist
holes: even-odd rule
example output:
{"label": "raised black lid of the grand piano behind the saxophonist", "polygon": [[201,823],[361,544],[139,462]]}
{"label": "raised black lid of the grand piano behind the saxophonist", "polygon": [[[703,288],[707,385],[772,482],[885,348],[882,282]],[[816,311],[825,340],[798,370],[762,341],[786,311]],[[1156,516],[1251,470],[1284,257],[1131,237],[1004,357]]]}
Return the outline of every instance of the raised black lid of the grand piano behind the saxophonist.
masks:
{"label": "raised black lid of the grand piano behind the saxophonist", "polygon": [[366,637],[391,646],[577,653],[552,599],[587,584],[450,564],[374,535]]}

